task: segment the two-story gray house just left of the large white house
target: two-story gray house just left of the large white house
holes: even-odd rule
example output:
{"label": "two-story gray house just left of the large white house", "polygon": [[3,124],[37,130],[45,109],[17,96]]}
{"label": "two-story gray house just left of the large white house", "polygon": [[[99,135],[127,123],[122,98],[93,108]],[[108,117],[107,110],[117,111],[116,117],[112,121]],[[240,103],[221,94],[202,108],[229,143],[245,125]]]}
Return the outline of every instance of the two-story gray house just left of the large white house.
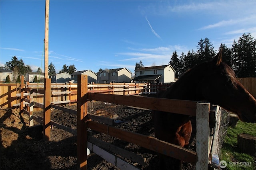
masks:
{"label": "two-story gray house just left of the large white house", "polygon": [[127,68],[115,68],[97,72],[97,83],[131,82],[132,72]]}

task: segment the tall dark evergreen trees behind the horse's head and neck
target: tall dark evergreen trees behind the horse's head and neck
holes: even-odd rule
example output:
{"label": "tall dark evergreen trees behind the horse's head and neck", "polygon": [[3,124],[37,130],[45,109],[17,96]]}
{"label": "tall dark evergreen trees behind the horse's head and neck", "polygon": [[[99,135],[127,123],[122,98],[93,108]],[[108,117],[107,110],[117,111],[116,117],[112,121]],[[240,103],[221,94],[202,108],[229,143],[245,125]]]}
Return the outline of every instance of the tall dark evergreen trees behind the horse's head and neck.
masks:
{"label": "tall dark evergreen trees behind the horse's head and neck", "polygon": [[[196,47],[197,51],[192,49],[187,54],[182,52],[180,57],[176,51],[172,53],[168,64],[174,68],[176,78],[193,66],[209,61],[216,55],[208,38],[200,39]],[[256,77],[256,39],[250,33],[243,34],[238,41],[234,40],[231,48],[221,44],[220,49],[223,50],[222,61],[234,70],[236,77]],[[141,67],[144,67],[142,61],[136,63],[135,70]]]}

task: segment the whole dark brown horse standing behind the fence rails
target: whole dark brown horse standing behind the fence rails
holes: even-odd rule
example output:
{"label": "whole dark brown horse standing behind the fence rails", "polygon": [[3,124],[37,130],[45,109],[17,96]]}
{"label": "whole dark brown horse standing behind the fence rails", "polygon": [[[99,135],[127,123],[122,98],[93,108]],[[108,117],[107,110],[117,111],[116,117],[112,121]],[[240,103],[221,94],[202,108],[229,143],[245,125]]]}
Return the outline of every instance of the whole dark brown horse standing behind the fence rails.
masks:
{"label": "whole dark brown horse standing behind the fence rails", "polygon": [[[172,86],[159,92],[158,98],[206,100],[236,113],[241,121],[256,122],[256,100],[222,62],[222,50],[211,61],[185,72]],[[152,111],[152,119],[156,138],[181,147],[188,145],[192,132],[189,116]],[[165,164],[160,162],[161,169],[177,169]]]}

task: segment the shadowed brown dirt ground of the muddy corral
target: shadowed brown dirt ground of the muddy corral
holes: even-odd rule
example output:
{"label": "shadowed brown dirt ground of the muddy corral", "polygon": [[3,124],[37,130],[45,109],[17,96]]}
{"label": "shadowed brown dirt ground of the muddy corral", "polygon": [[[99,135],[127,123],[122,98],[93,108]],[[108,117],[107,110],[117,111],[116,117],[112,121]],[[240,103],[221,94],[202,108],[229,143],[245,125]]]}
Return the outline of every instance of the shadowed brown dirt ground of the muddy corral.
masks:
{"label": "shadowed brown dirt ground of the muddy corral", "polygon": [[[72,106],[76,109],[76,106]],[[136,109],[128,106],[108,104],[104,102],[94,102],[88,104],[88,111],[94,113],[105,113],[104,116],[112,117],[116,121],[115,126],[154,136],[152,126],[151,111]],[[106,114],[107,113],[107,114]],[[43,116],[42,111],[35,111],[34,115]],[[75,170],[76,169],[76,135],[72,135],[62,129],[53,127],[51,129],[51,141],[37,139],[29,128],[29,117],[16,109],[6,107],[0,108],[1,121],[1,170]],[[76,129],[76,115],[52,109],[51,119],[57,123]],[[38,125],[34,121],[34,125]],[[192,120],[193,129],[195,121]],[[195,150],[195,130],[192,131],[192,139],[189,149]],[[107,143],[112,143],[118,147],[129,150],[146,158],[146,165],[136,166],[143,170],[159,169],[158,154],[138,145],[120,141],[119,139],[92,131],[92,136]],[[125,161],[134,164],[126,158]],[[116,166],[110,164],[100,156],[90,153],[88,156],[88,170],[118,170]],[[195,166],[183,162],[184,170],[195,169]]]}

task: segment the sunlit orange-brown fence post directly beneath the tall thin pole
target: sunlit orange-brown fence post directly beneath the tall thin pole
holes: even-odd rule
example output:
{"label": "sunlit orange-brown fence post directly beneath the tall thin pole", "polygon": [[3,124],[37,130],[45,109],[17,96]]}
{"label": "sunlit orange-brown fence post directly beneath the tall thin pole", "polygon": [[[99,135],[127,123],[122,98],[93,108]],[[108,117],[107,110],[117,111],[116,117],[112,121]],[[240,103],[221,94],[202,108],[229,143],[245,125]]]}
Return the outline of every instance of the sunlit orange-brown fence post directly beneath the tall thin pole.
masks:
{"label": "sunlit orange-brown fence post directly beneath the tall thin pole", "polygon": [[44,78],[44,140],[51,140],[51,79]]}

